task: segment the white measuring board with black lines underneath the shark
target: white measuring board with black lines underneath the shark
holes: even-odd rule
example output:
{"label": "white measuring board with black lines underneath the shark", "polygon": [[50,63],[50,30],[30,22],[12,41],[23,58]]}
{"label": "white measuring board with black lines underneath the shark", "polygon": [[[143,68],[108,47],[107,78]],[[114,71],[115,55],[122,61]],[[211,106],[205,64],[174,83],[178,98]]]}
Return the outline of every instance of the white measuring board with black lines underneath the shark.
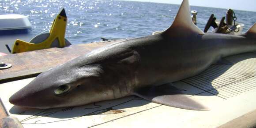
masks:
{"label": "white measuring board with black lines underneath the shark", "polygon": [[214,64],[202,73],[173,83],[209,111],[184,110],[151,103],[136,96],[55,109],[13,106],[9,97],[34,78],[0,85],[10,116],[24,128],[175,127],[215,128],[256,109],[256,53],[226,57],[232,64]]}

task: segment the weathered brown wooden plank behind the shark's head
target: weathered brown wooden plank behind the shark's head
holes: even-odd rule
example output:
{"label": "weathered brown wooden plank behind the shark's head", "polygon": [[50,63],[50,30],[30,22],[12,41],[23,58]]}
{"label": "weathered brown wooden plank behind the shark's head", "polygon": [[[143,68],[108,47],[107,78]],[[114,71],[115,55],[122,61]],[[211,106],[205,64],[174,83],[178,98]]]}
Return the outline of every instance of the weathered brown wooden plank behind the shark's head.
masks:
{"label": "weathered brown wooden plank behind the shark's head", "polygon": [[78,44],[65,48],[51,48],[1,56],[0,61],[12,64],[12,67],[0,70],[0,83],[38,75],[43,71],[47,71],[49,68],[64,64],[94,49],[123,40],[125,39]]}

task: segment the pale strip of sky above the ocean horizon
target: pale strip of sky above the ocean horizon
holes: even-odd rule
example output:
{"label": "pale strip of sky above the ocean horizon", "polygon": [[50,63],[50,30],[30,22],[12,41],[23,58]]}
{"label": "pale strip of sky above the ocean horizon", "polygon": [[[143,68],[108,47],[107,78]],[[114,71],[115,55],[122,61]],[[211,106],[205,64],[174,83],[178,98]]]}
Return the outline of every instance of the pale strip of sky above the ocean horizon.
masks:
{"label": "pale strip of sky above the ocean horizon", "polygon": [[[181,4],[182,0],[129,0],[154,3]],[[256,0],[189,0],[190,5],[256,11]]]}

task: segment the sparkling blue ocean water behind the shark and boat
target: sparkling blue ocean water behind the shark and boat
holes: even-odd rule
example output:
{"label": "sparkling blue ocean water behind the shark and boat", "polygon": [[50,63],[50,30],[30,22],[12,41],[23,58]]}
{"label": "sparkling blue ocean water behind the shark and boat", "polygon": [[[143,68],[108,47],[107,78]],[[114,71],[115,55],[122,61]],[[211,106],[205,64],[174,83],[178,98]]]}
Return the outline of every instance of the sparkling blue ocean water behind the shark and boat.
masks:
{"label": "sparkling blue ocean water behind the shark and boat", "polygon": [[[68,17],[66,38],[72,44],[100,41],[100,37],[134,38],[164,30],[173,22],[179,5],[116,0],[0,0],[0,14],[28,15],[31,35],[47,31],[62,8]],[[228,7],[227,7],[228,8]],[[226,9],[195,7],[203,30],[211,14],[220,20]],[[246,32],[256,22],[256,12],[234,10]]]}

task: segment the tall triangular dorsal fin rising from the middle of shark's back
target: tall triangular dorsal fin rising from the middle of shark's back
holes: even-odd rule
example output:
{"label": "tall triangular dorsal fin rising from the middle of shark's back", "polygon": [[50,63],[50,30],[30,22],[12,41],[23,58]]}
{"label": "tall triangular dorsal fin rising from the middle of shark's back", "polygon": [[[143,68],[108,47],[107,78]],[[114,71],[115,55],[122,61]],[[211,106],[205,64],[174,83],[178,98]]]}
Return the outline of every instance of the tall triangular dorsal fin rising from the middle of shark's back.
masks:
{"label": "tall triangular dorsal fin rising from the middle of shark's back", "polygon": [[187,37],[204,34],[204,32],[192,21],[188,0],[183,0],[173,24],[163,33],[174,37]]}

